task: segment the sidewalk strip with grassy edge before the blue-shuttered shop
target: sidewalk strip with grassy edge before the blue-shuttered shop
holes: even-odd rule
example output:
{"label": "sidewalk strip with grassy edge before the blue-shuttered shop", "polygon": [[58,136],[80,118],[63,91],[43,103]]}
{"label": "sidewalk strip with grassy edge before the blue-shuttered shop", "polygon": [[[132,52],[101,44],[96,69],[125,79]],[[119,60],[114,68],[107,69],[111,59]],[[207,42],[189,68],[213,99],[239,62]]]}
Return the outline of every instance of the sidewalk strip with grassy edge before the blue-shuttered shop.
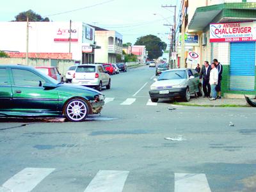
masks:
{"label": "sidewalk strip with grassy edge before the blue-shuttered shop", "polygon": [[[255,99],[253,99],[255,102]],[[212,106],[212,107],[249,107],[245,99],[216,99],[209,100],[209,98],[204,97],[191,97],[189,102],[175,102],[174,104],[184,105],[184,106]]]}

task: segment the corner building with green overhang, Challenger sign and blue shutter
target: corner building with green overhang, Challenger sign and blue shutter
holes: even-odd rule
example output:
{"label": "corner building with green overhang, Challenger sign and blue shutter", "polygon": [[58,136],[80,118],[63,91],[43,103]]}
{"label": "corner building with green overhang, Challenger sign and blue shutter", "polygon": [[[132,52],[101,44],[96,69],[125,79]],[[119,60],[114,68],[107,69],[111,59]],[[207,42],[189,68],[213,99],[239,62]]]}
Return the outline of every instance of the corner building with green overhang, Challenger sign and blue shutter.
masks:
{"label": "corner building with green overhang, Challenger sign and blue shutter", "polygon": [[[182,13],[180,67],[190,67],[186,63],[189,51],[200,56],[201,65],[218,59],[223,65],[223,96],[256,95],[256,1],[187,0]],[[198,36],[198,45],[189,47],[188,35]]]}

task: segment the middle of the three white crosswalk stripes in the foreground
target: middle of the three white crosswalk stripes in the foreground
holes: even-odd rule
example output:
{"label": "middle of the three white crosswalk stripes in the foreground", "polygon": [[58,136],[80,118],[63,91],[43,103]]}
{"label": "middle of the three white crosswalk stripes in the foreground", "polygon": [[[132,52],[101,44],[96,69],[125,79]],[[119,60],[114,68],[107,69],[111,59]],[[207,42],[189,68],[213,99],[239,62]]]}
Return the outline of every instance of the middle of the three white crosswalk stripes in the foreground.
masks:
{"label": "middle of the three white crosswalk stripes in the foreground", "polygon": [[84,192],[122,192],[129,172],[100,170]]}

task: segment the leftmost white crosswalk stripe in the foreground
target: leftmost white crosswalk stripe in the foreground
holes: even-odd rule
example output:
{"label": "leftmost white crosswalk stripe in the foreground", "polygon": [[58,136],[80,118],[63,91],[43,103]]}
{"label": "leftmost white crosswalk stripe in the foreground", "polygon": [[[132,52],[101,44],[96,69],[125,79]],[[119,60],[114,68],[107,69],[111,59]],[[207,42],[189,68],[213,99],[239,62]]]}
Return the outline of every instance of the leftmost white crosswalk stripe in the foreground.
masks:
{"label": "leftmost white crosswalk stripe in the foreground", "polygon": [[4,182],[3,188],[12,192],[29,192],[54,170],[54,168],[24,168]]}

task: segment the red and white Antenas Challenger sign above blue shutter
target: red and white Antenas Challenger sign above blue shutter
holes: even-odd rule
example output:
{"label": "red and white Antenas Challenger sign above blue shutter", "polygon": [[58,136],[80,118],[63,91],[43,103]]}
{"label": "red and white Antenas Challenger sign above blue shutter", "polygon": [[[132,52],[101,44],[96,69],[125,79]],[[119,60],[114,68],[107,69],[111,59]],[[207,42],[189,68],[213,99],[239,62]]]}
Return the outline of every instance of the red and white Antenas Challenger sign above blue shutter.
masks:
{"label": "red and white Antenas Challenger sign above blue shutter", "polygon": [[210,42],[255,41],[255,22],[210,24]]}

